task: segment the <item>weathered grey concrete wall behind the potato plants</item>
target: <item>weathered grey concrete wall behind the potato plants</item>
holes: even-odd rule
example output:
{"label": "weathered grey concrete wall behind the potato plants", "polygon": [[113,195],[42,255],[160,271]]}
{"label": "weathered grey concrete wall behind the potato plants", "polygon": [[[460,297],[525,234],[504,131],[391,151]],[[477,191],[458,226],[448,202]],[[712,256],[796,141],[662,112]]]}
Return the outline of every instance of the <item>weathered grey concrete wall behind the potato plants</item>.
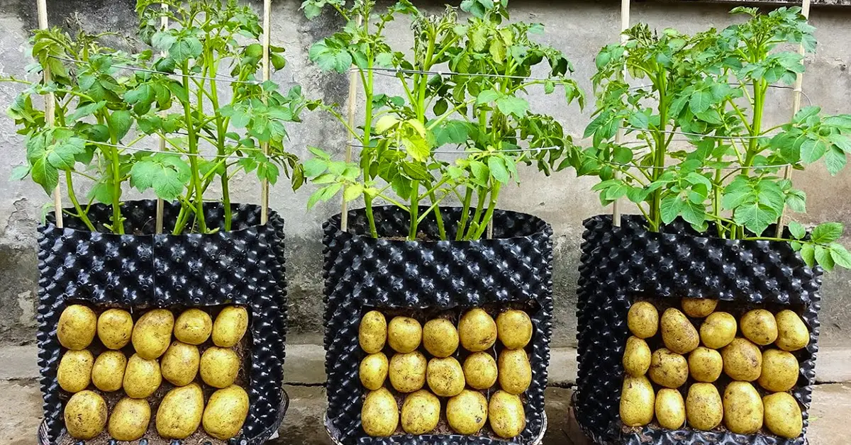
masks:
{"label": "weathered grey concrete wall behind the potato plants", "polygon": [[[511,14],[517,20],[540,21],[547,32],[541,38],[562,48],[576,66],[575,77],[591,90],[589,78],[594,71],[594,55],[603,45],[618,38],[620,2],[528,2],[512,0]],[[132,34],[135,27],[134,0],[54,0],[50,1],[50,20],[62,20],[79,14],[88,29]],[[261,3],[254,2],[255,7]],[[420,2],[422,4],[422,2]],[[347,76],[323,74],[307,60],[307,49],[319,37],[333,32],[340,23],[330,14],[307,21],[299,11],[300,1],[279,0],[272,17],[273,44],[288,48],[289,66],[276,75],[279,83],[301,83],[306,94],[343,104],[348,90]],[[27,30],[36,26],[34,3],[25,0],[0,0],[0,72],[17,74],[24,70]],[[437,11],[438,3],[423,8]],[[656,27],[676,26],[682,31],[700,31],[730,23],[729,4],[718,3],[634,3],[633,22],[647,21]],[[818,53],[808,57],[804,88],[809,98],[826,112],[849,112],[851,100],[851,9],[817,7],[812,23],[818,27]],[[398,42],[408,38],[407,24],[398,22],[391,36]],[[19,86],[0,83],[0,104],[6,106]],[[557,97],[534,96],[534,108],[550,110],[574,136],[582,134],[590,109],[580,112],[576,106],[563,106]],[[779,91],[771,97],[774,110],[769,120],[779,122],[789,116],[791,97]],[[312,114],[306,122],[291,129],[290,147],[306,155],[306,146],[317,145],[342,152],[344,135],[340,126],[321,114]],[[12,122],[0,118],[0,178],[24,159],[22,140],[14,134]],[[551,222],[556,236],[556,333],[555,345],[572,345],[575,328],[575,286],[582,234],[581,221],[607,212],[589,191],[594,180],[577,180],[572,172],[547,179],[532,171],[523,171],[523,185],[511,187],[500,196],[501,207],[536,214]],[[851,223],[851,169],[829,180],[823,168],[796,172],[798,184],[808,192],[809,214],[796,218],[803,223],[840,220]],[[824,181],[824,182],[823,182]],[[257,202],[259,187],[252,181],[233,186],[236,198]],[[306,212],[311,186],[298,194],[285,185],[273,191],[272,206],[287,220],[289,305],[292,329],[297,334],[314,334],[322,329],[322,221],[339,211],[336,203],[321,205]],[[0,339],[6,342],[28,341],[33,335],[34,295],[37,286],[35,226],[43,203],[48,199],[37,185],[0,180]],[[652,267],[653,265],[648,265]],[[827,344],[842,343],[842,331],[851,328],[851,273],[838,271],[825,278],[822,305],[822,334]]]}

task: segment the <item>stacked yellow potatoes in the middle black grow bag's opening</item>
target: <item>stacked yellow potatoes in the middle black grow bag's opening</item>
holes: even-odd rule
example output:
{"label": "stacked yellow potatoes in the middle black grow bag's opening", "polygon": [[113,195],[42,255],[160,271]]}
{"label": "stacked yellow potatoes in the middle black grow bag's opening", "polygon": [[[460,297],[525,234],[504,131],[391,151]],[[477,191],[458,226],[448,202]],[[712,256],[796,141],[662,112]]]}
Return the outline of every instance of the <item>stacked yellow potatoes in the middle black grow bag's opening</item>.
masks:
{"label": "stacked yellow potatoes in the middle black grow bag's opening", "polygon": [[[359,369],[368,390],[361,412],[363,431],[369,436],[397,431],[400,409],[386,387],[389,377],[389,388],[404,397],[401,423],[408,434],[434,431],[445,402],[449,428],[458,434],[475,435],[489,419],[497,436],[519,435],[526,427],[520,395],[532,382],[524,349],[532,331],[526,312],[517,310],[503,311],[494,321],[483,309],[471,309],[460,317],[457,328],[447,318],[429,320],[425,326],[409,317],[387,323],[380,311],[369,311],[358,335],[367,354]],[[494,360],[497,339],[502,348]],[[391,355],[389,361],[385,352]],[[498,382],[500,389],[491,392]]]}

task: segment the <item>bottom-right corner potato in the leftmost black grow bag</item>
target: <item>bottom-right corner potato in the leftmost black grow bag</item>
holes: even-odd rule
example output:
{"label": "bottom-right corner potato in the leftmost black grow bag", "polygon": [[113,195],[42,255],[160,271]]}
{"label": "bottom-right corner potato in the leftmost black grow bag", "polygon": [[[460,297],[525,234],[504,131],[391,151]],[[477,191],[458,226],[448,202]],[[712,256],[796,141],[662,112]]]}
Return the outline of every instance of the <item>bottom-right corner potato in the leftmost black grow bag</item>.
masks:
{"label": "bottom-right corner potato in the leftmost black grow bag", "polygon": [[237,436],[248,416],[248,393],[237,385],[215,391],[204,408],[202,425],[207,434],[226,441]]}

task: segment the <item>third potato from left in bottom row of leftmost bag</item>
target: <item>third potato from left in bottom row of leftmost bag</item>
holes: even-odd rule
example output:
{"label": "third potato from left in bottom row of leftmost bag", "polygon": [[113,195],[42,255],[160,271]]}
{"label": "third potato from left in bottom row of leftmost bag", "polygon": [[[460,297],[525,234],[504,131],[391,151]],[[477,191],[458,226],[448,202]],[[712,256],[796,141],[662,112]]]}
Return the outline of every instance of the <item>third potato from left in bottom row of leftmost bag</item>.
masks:
{"label": "third potato from left in bottom row of leftmost bag", "polygon": [[165,439],[186,439],[201,425],[204,395],[197,383],[174,388],[157,408],[157,433]]}

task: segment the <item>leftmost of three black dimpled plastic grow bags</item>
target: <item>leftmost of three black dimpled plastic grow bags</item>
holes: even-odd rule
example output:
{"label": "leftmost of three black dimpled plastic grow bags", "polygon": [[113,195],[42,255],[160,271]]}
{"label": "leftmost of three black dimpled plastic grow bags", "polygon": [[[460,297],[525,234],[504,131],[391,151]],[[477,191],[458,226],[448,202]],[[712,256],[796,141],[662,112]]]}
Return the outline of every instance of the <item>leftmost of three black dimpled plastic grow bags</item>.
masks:
{"label": "leftmost of three black dimpled plastic grow bags", "polygon": [[[179,206],[166,204],[164,220],[176,220]],[[211,227],[221,226],[224,208],[205,204]],[[56,381],[62,354],[56,325],[66,305],[83,303],[129,311],[157,307],[225,304],[249,311],[247,355],[248,418],[231,443],[266,442],[277,432],[288,399],[282,390],[287,328],[283,219],[274,212],[260,225],[260,207],[232,206],[231,231],[211,235],[152,235],[156,202],[128,202],[125,231],[133,235],[92,232],[76,218],[66,227],[38,227],[38,366],[44,398],[39,442],[54,444],[65,431],[63,409],[69,397]],[[108,223],[111,207],[95,205],[93,224]],[[166,227],[168,232],[168,227]],[[151,418],[153,415],[151,415]],[[102,433],[108,434],[108,433]]]}

